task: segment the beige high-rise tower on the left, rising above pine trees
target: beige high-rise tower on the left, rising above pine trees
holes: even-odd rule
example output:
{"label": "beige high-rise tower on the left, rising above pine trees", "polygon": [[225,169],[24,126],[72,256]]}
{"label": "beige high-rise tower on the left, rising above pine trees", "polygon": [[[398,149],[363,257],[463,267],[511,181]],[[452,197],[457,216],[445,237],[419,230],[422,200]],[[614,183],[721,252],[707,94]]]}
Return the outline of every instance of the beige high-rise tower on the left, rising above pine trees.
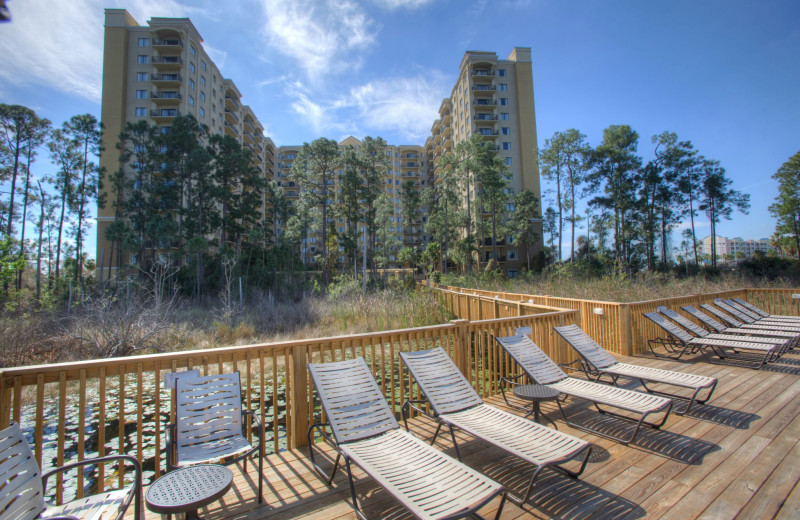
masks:
{"label": "beige high-rise tower on the left, rising above pine trees", "polygon": [[[193,115],[211,134],[236,138],[253,153],[253,164],[272,178],[275,146],[242,94],[203,49],[203,38],[188,18],[152,18],[139,25],[124,9],[106,9],[103,52],[103,152],[107,172],[119,169],[117,136],[126,123],[146,120],[167,133],[175,117]],[[109,190],[109,183],[105,183]],[[111,200],[110,194],[107,196]],[[263,201],[263,206],[267,201]],[[111,243],[105,230],[114,208],[98,210],[97,260],[108,257]],[[116,254],[116,253],[115,253]],[[116,265],[116,261],[114,262]]]}

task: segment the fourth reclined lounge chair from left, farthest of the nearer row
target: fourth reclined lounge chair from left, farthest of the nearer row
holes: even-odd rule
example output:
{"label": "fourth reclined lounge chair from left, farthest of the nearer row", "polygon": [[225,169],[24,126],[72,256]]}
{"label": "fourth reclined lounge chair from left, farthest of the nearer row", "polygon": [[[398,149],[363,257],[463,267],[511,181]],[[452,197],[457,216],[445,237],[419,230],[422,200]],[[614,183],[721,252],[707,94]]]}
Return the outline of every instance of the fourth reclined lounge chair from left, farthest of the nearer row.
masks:
{"label": "fourth reclined lounge chair from left, farthest of the nearer row", "polygon": [[[608,376],[615,386],[620,377],[636,379],[648,393],[688,400],[686,409],[683,412],[675,410],[674,413],[677,415],[688,413],[694,403],[705,404],[708,402],[717,387],[717,378],[715,377],[620,363],[577,325],[554,327],[554,330],[580,354],[580,361],[588,378],[602,382],[602,377]],[[647,386],[648,382],[688,388],[693,393],[691,397],[686,397],[684,395],[656,391]],[[703,391],[705,391],[705,396],[702,399],[698,398]]]}

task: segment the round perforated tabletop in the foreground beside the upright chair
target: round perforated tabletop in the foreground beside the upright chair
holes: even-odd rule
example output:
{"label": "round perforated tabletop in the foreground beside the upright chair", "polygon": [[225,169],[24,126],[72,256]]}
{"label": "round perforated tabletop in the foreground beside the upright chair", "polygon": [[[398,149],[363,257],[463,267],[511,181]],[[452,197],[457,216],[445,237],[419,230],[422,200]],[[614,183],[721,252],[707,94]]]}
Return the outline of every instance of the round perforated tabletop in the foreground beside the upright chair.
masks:
{"label": "round perforated tabletop in the foreground beside the upright chair", "polygon": [[233,473],[218,464],[198,464],[170,471],[147,489],[145,502],[154,513],[186,513],[197,520],[197,510],[220,498],[233,485]]}

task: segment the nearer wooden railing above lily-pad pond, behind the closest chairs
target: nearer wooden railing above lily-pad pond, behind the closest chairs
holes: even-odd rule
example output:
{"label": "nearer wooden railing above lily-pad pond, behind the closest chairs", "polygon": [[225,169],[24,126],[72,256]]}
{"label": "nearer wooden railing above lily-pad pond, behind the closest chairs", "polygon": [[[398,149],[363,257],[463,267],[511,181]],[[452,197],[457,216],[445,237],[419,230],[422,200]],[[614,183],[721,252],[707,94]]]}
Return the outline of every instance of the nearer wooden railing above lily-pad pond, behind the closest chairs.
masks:
{"label": "nearer wooden railing above lily-pad pond, behind the closest chairs", "polygon": [[[530,314],[506,316],[512,314],[506,303],[488,303],[483,302],[476,312],[489,317],[490,308],[499,309],[492,319],[459,319],[413,329],[3,369],[0,429],[10,421],[19,422],[45,470],[53,464],[91,456],[128,453],[143,463],[151,480],[165,470],[165,431],[175,413],[172,396],[162,388],[167,372],[192,368],[205,375],[239,371],[245,406],[263,417],[268,432],[266,450],[279,451],[306,444],[308,426],[319,409],[307,375],[308,363],[363,356],[390,405],[399,413],[411,393],[419,397],[418,390],[410,390],[410,375],[398,356],[401,351],[444,348],[482,396],[496,394],[499,377],[514,370],[494,336],[531,327],[534,341],[554,360],[573,359],[559,344],[553,327],[576,323],[576,311],[548,312],[541,306],[516,302],[515,311]],[[123,483],[125,478],[125,468],[109,475],[98,468],[92,485],[101,491],[111,482]],[[60,502],[64,482],[59,478],[51,484],[55,489],[50,492]],[[85,484],[83,472],[78,472],[76,485],[70,489],[76,488],[74,492],[80,497]]]}

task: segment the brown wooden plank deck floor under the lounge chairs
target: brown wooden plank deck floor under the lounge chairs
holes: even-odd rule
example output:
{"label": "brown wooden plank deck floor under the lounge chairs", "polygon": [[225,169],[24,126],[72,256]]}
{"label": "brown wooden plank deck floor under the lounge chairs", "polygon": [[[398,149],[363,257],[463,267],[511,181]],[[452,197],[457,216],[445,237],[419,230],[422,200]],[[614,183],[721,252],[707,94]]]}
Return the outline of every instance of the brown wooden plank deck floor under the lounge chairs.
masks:
{"label": "brown wooden plank deck floor under the lounge chairs", "polygon": [[[629,361],[719,378],[709,405],[688,416],[672,415],[661,430],[643,430],[630,446],[573,430],[552,403],[542,406],[559,429],[593,443],[580,480],[546,471],[524,508],[508,503],[504,519],[517,518],[781,518],[800,517],[800,353],[763,370],[636,357]],[[489,400],[506,408],[500,396]],[[616,431],[624,421],[607,419],[585,403],[570,400],[567,411],[578,422]],[[520,403],[523,404],[523,403]],[[430,438],[429,421],[415,419],[412,431]],[[440,449],[454,455],[440,437]],[[530,467],[464,433],[458,435],[464,461],[507,488],[521,493]],[[344,471],[332,487],[312,472],[307,452],[288,451],[264,463],[263,504],[254,496],[257,466],[247,474],[234,467],[234,488],[201,516],[215,519],[354,519]],[[384,490],[362,472],[356,489],[369,518],[409,518]],[[493,516],[495,500],[483,513]],[[158,515],[148,519],[159,518]]]}

